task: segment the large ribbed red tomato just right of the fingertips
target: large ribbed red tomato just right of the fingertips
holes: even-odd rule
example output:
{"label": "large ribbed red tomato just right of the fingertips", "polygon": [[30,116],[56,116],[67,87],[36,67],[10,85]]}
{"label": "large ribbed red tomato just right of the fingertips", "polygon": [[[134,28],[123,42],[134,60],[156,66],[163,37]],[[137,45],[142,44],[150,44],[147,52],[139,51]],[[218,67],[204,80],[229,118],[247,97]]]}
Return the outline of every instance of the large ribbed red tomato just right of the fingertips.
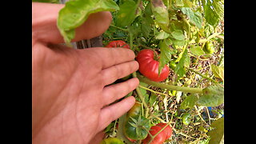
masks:
{"label": "large ribbed red tomato just right of the fingertips", "polygon": [[139,72],[146,78],[154,82],[164,81],[170,74],[170,69],[166,65],[162,68],[161,74],[158,76],[159,62],[154,60],[154,51],[149,49],[141,50],[136,58],[139,64]]}

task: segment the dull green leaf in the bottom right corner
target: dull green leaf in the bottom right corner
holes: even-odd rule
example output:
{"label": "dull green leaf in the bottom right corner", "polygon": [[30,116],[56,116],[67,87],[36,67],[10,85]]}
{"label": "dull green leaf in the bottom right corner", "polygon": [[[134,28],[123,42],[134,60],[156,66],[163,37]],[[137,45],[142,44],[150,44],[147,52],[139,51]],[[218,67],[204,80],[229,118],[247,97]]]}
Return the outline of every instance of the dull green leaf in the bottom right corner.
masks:
{"label": "dull green leaf in the bottom right corner", "polygon": [[209,144],[224,143],[224,118],[219,118],[212,122],[210,126],[214,127],[214,130],[210,130],[207,133],[207,135],[210,136]]}

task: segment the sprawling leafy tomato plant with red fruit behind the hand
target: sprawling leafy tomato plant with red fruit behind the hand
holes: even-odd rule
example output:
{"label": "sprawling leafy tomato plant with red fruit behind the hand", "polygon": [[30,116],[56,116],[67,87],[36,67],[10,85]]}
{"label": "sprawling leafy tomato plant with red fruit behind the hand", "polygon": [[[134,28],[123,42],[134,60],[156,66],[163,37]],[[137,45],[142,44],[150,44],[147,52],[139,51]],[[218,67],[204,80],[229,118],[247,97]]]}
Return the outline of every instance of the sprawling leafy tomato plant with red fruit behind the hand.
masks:
{"label": "sprawling leafy tomato plant with red fruit behind the hand", "polygon": [[[74,38],[74,29],[90,14],[109,10],[113,21],[102,34],[103,46],[122,40],[137,55],[139,70],[132,76],[139,79],[140,85],[133,95],[142,103],[141,108],[134,106],[118,118],[117,131],[111,129],[115,126],[112,122],[107,129],[109,136],[130,143],[128,135],[139,139],[136,141],[139,143],[144,137],[151,138],[146,132],[150,126],[154,126],[155,133],[161,128],[156,123],[168,122],[173,131],[167,134],[166,142],[222,140],[222,129],[210,129],[210,126],[222,126],[215,123],[222,119],[222,114],[210,118],[207,106],[215,111],[224,110],[223,0],[74,0],[69,3],[73,7],[66,5],[58,15],[58,29],[66,43]],[[70,13],[76,17],[70,18]],[[128,46],[118,44],[121,45]],[[141,116],[139,122],[137,115]],[[164,142],[165,138],[160,136],[155,141]]]}

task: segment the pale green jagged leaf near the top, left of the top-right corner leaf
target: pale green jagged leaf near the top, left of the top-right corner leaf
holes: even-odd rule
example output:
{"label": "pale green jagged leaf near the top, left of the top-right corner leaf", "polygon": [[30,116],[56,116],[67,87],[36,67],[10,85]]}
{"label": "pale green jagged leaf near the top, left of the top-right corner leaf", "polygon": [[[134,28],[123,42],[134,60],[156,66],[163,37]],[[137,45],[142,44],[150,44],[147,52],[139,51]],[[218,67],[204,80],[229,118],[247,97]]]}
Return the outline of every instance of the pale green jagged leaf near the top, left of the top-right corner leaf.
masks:
{"label": "pale green jagged leaf near the top, left of the top-right corner leaf", "polygon": [[194,26],[198,26],[199,29],[202,29],[202,14],[200,12],[195,12],[190,9],[190,7],[182,7],[182,13],[186,14],[190,18],[190,23]]}

